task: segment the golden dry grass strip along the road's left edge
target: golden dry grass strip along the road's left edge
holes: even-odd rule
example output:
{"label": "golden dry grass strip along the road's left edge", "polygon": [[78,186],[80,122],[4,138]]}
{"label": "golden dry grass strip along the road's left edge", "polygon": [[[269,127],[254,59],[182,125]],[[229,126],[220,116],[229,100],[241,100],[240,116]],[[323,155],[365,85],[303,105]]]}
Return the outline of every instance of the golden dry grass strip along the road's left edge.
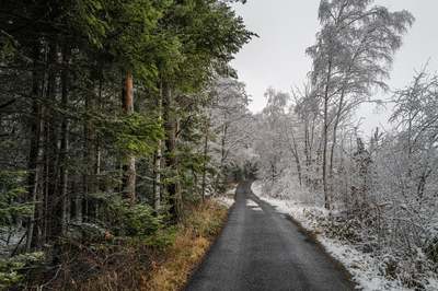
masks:
{"label": "golden dry grass strip along the road's left edge", "polygon": [[141,290],[181,290],[220,232],[226,218],[227,209],[214,201],[194,208],[165,257],[152,263],[149,280]]}

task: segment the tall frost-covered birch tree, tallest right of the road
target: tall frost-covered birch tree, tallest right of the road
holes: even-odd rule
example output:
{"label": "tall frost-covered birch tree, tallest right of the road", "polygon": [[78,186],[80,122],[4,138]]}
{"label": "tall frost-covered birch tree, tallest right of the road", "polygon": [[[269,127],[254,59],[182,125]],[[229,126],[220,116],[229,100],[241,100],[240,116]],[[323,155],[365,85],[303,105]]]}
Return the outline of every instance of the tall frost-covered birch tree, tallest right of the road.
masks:
{"label": "tall frost-covered birch tree, tallest right of the road", "polygon": [[314,94],[322,104],[322,181],[326,208],[331,203],[330,181],[333,179],[339,124],[369,98],[374,88],[388,89],[384,81],[389,77],[393,54],[414,21],[407,11],[390,12],[384,7],[371,5],[372,2],[321,1],[321,30],[316,34],[316,44],[307,50],[313,60],[311,79]]}

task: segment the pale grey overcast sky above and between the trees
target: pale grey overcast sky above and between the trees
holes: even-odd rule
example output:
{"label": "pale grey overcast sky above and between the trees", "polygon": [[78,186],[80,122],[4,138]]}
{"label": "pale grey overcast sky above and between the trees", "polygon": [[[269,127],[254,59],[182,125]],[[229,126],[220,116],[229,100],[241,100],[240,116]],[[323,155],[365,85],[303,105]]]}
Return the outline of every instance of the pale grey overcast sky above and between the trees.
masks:
{"label": "pale grey overcast sky above and between the trees", "polygon": [[[431,72],[438,71],[438,1],[437,0],[376,0],[391,11],[406,9],[415,16],[413,27],[404,37],[403,47],[395,55],[391,80],[392,90],[410,84],[415,70],[428,62]],[[235,4],[250,31],[260,37],[247,44],[232,61],[239,78],[246,83],[252,96],[250,109],[257,113],[265,105],[264,92],[268,86],[290,92],[301,86],[311,70],[306,48],[313,45],[319,30],[318,8],[320,0],[247,0]],[[378,93],[376,98],[388,98]],[[390,108],[377,109],[364,105],[357,113],[361,129],[370,133],[372,128],[388,127]]]}

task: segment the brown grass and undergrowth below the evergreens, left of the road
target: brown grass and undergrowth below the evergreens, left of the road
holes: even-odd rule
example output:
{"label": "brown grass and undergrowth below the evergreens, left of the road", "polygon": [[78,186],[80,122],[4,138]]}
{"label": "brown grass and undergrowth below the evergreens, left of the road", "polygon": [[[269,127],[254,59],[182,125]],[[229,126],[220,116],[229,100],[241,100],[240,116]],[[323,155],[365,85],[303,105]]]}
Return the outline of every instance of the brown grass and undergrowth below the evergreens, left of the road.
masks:
{"label": "brown grass and undergrowth below the evergreens, left of the road", "polygon": [[228,209],[207,200],[186,211],[176,228],[164,229],[154,244],[141,240],[69,245],[62,264],[37,272],[21,290],[181,290],[227,219]]}

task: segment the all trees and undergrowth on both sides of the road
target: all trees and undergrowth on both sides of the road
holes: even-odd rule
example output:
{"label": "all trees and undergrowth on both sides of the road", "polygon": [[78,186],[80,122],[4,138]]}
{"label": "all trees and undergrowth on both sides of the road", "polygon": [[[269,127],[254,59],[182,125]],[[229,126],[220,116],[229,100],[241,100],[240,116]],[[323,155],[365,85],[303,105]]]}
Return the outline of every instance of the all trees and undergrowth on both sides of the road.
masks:
{"label": "all trees and undergrowth on both sides of the road", "polygon": [[1,290],[181,290],[245,179],[366,256],[360,288],[438,290],[438,74],[389,85],[414,15],[319,1],[306,82],[252,113],[237,2],[2,1]]}

